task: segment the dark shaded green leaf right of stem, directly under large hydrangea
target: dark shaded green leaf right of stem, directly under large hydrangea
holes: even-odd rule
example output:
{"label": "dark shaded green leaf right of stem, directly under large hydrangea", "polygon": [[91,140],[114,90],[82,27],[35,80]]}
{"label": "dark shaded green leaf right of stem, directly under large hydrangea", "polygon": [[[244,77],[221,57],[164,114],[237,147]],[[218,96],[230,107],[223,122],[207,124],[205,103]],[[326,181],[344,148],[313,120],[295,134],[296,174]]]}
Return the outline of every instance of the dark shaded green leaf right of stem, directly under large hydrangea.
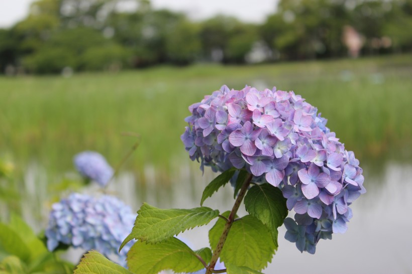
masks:
{"label": "dark shaded green leaf right of stem, directly under large hydrangea", "polygon": [[272,232],[273,242],[277,243],[277,228],[287,216],[286,199],[282,191],[270,184],[255,185],[245,196],[246,211],[258,218]]}

